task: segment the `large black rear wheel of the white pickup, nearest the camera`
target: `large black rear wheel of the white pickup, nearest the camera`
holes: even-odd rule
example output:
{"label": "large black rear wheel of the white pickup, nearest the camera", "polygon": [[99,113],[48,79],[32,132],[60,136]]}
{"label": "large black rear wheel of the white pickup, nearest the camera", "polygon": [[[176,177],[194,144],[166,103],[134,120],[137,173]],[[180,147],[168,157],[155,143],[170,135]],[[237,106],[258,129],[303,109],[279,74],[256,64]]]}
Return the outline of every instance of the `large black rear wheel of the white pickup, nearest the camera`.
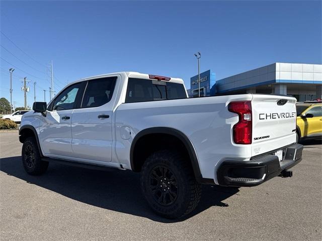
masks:
{"label": "large black rear wheel of the white pickup, nearest the camera", "polygon": [[179,218],[196,208],[201,185],[190,160],[170,150],[150,155],[142,167],[141,189],[152,210],[166,218]]}

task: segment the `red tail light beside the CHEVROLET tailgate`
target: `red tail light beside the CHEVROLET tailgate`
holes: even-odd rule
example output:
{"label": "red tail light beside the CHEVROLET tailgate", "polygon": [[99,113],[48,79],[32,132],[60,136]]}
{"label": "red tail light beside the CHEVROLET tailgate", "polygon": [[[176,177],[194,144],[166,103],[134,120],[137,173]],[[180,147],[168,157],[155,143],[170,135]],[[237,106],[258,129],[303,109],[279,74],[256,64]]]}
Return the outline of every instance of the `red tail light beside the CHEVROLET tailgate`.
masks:
{"label": "red tail light beside the CHEVROLET tailgate", "polygon": [[228,110],[237,113],[239,121],[233,126],[235,144],[252,144],[252,104],[251,101],[235,101],[228,104]]}

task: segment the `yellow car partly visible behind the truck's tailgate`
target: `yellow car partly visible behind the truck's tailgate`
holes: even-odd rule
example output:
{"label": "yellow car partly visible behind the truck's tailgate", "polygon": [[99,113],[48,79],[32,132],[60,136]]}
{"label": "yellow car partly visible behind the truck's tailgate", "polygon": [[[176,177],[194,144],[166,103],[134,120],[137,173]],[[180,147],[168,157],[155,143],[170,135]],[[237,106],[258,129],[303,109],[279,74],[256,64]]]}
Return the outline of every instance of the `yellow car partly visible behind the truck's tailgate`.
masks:
{"label": "yellow car partly visible behind the truck's tailgate", "polygon": [[322,103],[297,103],[296,114],[296,142],[322,138]]}

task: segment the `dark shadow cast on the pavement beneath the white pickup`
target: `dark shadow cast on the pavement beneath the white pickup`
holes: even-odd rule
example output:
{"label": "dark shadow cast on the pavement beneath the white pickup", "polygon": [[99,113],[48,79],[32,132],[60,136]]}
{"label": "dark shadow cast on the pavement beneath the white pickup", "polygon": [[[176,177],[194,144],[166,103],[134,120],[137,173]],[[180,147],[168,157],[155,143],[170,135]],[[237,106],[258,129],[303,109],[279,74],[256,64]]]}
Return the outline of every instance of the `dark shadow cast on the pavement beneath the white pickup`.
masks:
{"label": "dark shadow cast on the pavement beneath the white pickup", "polygon": [[204,185],[198,207],[183,219],[169,220],[157,216],[149,208],[141,194],[139,173],[112,168],[108,171],[91,170],[50,163],[42,176],[30,176],[23,169],[21,156],[2,158],[0,170],[89,205],[164,223],[183,221],[211,206],[226,207],[228,204],[222,201],[238,192],[237,188]]}

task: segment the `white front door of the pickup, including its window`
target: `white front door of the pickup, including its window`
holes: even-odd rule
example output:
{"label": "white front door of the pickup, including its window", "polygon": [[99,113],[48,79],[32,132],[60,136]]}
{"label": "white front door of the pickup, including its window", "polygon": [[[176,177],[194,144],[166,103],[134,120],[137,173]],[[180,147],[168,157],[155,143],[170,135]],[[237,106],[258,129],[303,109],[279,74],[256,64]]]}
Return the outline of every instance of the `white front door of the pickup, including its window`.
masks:
{"label": "white front door of the pickup, including its window", "polygon": [[45,156],[71,156],[71,115],[80,104],[84,87],[85,82],[66,87],[48,106],[46,116],[40,116],[39,140]]}

